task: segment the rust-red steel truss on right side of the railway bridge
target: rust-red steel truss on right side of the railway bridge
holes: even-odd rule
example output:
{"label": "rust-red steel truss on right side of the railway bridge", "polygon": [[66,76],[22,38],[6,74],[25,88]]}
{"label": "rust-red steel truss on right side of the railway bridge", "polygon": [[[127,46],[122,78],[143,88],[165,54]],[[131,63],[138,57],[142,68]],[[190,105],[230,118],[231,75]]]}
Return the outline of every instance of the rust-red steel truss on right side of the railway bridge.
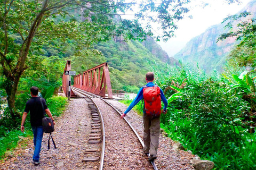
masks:
{"label": "rust-red steel truss on right side of the railway bridge", "polygon": [[113,98],[108,63],[95,66],[83,72],[83,75],[76,75],[74,77],[74,87],[102,97],[106,97],[107,87],[108,98]]}

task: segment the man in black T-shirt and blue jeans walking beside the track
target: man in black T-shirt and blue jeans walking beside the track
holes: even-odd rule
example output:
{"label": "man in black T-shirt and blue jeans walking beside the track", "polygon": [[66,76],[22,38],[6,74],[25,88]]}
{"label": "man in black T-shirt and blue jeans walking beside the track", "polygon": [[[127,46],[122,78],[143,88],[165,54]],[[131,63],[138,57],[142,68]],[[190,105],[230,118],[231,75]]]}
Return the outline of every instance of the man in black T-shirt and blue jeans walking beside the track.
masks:
{"label": "man in black T-shirt and blue jeans walking beside the track", "polygon": [[42,139],[44,134],[43,126],[42,126],[42,118],[44,117],[44,111],[52,119],[53,124],[55,123],[54,123],[52,114],[46,105],[45,99],[37,96],[38,88],[34,86],[31,87],[30,94],[32,98],[28,100],[26,103],[25,111],[23,112],[23,115],[22,115],[20,130],[21,132],[25,131],[24,123],[26,121],[26,117],[28,113],[30,113],[30,124],[34,134],[34,146],[35,146],[33,163],[34,165],[39,165],[39,154],[41,151]]}

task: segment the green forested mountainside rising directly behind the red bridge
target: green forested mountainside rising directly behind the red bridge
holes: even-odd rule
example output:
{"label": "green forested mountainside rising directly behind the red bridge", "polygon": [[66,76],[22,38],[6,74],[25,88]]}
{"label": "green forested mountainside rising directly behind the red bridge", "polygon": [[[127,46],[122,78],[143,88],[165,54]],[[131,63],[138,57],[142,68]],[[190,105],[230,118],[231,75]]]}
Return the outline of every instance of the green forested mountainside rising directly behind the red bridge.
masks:
{"label": "green forested mountainside rising directly behind the red bridge", "polygon": [[72,68],[82,73],[90,67],[108,62],[114,89],[136,92],[145,83],[145,74],[151,71],[151,66],[163,68],[166,63],[178,64],[150,37],[145,41],[124,41],[122,37],[114,37],[94,44],[94,48],[100,53],[72,56]]}

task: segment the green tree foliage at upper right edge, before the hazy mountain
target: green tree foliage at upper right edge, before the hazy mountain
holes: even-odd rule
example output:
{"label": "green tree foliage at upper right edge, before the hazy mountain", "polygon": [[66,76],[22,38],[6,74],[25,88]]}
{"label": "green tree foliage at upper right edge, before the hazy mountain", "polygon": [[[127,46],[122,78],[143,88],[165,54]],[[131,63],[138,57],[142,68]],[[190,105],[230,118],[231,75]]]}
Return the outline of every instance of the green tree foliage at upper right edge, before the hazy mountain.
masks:
{"label": "green tree foliage at upper right edge, before the hazy mountain", "polygon": [[[223,22],[228,21],[225,27],[230,31],[223,33],[218,41],[228,37],[236,37],[236,40],[240,41],[227,56],[228,64],[234,68],[236,66],[256,66],[256,24],[254,19],[245,19],[249,15],[251,15],[250,12],[242,12],[238,15],[230,15],[223,20]],[[237,23],[236,26],[234,26],[235,23]],[[233,29],[233,27],[236,29]]]}

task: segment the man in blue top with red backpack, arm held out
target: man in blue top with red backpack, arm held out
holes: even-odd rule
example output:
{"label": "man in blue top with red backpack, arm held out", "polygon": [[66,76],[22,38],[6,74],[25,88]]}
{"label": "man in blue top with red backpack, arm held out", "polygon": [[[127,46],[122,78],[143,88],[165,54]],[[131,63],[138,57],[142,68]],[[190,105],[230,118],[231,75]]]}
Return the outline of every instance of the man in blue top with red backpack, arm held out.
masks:
{"label": "man in blue top with red backpack, arm held out", "polygon": [[[149,161],[154,161],[157,155],[157,148],[159,145],[159,130],[160,130],[160,115],[163,112],[166,114],[167,111],[167,100],[161,88],[153,83],[154,73],[148,72],[146,74],[146,86],[140,88],[137,96],[134,98],[130,106],[126,109],[124,114],[121,115],[123,118],[131,109],[139,103],[141,99],[144,100],[143,106],[143,140],[145,147],[143,151],[145,154],[150,154]],[[161,100],[164,103],[162,111]]]}

